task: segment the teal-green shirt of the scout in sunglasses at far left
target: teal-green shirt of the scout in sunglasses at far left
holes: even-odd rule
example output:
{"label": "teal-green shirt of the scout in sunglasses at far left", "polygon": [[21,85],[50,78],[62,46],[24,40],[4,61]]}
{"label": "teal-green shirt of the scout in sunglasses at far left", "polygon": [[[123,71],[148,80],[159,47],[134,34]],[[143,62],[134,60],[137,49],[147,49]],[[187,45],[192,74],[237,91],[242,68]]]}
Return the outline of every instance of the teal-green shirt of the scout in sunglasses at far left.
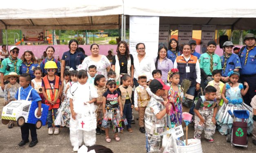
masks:
{"label": "teal-green shirt of the scout in sunglasses at far left", "polygon": [[[17,74],[20,74],[20,66],[21,65],[22,65],[22,60],[18,59],[18,61],[16,63],[16,73]],[[10,66],[9,71],[6,70],[7,66]],[[6,58],[2,61],[0,72],[2,72],[4,75],[8,75],[10,72],[15,72],[14,65],[9,58]]]}

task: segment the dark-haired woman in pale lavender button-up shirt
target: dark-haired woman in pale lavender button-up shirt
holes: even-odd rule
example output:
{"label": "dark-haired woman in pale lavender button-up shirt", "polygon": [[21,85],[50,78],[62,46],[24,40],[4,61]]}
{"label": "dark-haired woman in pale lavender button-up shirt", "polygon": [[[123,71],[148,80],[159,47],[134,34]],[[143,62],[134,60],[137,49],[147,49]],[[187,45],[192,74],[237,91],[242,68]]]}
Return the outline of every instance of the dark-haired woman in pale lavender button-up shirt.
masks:
{"label": "dark-haired woman in pale lavender button-up shirt", "polygon": [[162,79],[167,83],[167,75],[169,70],[174,68],[174,65],[170,59],[167,58],[167,47],[160,46],[155,61],[156,69],[162,71]]}

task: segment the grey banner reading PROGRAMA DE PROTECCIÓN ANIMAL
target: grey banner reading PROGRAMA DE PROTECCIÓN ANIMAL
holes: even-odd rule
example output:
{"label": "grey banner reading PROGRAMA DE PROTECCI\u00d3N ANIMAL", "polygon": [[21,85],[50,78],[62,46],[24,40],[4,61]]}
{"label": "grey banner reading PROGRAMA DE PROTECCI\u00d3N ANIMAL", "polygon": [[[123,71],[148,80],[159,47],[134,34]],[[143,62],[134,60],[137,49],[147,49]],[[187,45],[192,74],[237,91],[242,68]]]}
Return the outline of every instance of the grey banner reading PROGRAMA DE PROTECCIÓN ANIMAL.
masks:
{"label": "grey banner reading PROGRAMA DE PROTECCI\u00d3N ANIMAL", "polygon": [[193,25],[178,25],[178,42],[187,44],[192,39]]}

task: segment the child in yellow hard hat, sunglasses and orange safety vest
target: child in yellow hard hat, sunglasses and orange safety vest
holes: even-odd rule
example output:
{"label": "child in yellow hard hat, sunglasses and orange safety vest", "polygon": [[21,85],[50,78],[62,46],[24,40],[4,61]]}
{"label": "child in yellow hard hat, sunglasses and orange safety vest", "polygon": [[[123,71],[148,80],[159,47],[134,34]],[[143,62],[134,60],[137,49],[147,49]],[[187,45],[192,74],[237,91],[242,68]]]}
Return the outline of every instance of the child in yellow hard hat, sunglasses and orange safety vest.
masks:
{"label": "child in yellow hard hat, sunglasses and orange safety vest", "polygon": [[[42,93],[45,97],[45,104],[49,106],[47,122],[48,122],[48,134],[53,134],[52,129],[52,111],[54,118],[56,119],[58,108],[60,107],[60,94],[61,94],[61,81],[60,77],[55,75],[57,65],[54,61],[47,61],[45,63],[45,70],[47,75],[42,79]],[[54,134],[60,133],[60,126],[55,126]]]}

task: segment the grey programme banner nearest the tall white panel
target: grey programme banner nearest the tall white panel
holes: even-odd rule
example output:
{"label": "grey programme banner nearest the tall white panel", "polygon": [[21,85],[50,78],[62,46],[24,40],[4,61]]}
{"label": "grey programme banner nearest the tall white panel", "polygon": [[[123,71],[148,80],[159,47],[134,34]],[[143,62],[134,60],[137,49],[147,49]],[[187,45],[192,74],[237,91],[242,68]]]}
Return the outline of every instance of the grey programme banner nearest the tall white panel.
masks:
{"label": "grey programme banner nearest the tall white panel", "polygon": [[159,25],[159,37],[158,37],[158,46],[166,46],[168,48],[169,43],[169,24],[161,24]]}

